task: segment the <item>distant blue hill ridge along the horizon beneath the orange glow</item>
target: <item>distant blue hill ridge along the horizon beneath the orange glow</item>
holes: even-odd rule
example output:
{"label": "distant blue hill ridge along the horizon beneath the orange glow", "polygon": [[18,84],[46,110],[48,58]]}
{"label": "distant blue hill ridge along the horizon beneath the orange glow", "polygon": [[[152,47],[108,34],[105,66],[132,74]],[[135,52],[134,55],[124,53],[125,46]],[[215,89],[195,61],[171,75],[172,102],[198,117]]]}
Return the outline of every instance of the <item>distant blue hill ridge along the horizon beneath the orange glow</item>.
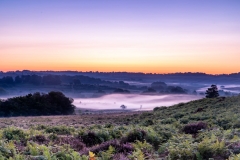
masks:
{"label": "distant blue hill ridge along the horizon beneath the orange glow", "polygon": [[1,72],[0,77],[3,76],[20,76],[20,75],[66,75],[66,76],[89,76],[94,78],[101,78],[103,80],[152,80],[153,81],[165,81],[165,82],[234,82],[240,83],[240,72],[232,74],[206,74],[206,73],[168,73],[168,74],[155,74],[155,73],[134,73],[134,72],[78,72],[78,71],[12,71]]}

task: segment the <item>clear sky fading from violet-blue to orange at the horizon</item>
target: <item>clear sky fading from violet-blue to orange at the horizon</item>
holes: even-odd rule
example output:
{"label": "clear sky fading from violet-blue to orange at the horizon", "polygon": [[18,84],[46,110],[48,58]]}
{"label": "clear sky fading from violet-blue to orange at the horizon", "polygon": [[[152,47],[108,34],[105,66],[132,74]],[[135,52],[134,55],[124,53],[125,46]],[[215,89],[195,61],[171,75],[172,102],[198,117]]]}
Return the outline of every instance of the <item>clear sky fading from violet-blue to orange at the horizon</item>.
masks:
{"label": "clear sky fading from violet-blue to orange at the horizon", "polygon": [[0,0],[0,71],[240,72],[239,0]]}

